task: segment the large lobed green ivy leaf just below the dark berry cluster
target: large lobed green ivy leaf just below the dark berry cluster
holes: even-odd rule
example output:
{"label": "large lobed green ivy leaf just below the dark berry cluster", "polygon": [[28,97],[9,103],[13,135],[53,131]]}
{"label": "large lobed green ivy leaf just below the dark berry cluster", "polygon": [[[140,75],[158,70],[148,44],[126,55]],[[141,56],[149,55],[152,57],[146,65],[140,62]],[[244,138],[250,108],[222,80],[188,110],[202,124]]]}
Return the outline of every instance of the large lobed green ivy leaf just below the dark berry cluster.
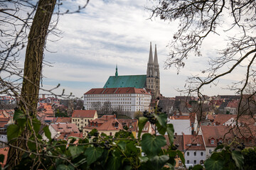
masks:
{"label": "large lobed green ivy leaf just below the dark berry cluster", "polygon": [[161,147],[166,145],[164,136],[153,136],[149,133],[142,135],[142,151],[147,155],[159,154]]}

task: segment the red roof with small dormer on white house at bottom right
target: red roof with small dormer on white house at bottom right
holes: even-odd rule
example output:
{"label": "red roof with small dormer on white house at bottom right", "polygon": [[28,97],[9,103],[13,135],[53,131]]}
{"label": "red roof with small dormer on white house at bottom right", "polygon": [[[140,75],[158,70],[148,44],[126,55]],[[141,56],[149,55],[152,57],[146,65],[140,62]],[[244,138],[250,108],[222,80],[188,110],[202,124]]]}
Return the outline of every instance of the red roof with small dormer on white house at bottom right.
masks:
{"label": "red roof with small dormer on white house at bottom right", "polygon": [[183,135],[183,146],[186,150],[206,150],[202,135]]}

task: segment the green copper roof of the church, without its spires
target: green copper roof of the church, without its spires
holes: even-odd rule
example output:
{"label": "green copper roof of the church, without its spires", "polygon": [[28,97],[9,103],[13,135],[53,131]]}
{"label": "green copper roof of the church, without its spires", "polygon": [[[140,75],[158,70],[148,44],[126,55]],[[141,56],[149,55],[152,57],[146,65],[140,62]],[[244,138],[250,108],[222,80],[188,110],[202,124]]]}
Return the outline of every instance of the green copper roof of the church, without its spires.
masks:
{"label": "green copper roof of the church, without its spires", "polygon": [[111,76],[103,88],[135,87],[143,89],[146,87],[146,75]]}

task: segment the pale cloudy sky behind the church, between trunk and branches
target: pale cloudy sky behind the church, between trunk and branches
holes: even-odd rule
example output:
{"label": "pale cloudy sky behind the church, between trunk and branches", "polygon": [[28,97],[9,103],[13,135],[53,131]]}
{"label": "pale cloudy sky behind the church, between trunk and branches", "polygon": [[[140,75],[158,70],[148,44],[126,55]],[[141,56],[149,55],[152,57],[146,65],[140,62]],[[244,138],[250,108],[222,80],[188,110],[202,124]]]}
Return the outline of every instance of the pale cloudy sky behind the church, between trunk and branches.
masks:
{"label": "pale cloudy sky behind the church, between trunk and branches", "polygon": [[[75,8],[85,1],[66,1],[65,6]],[[46,62],[52,67],[43,67],[43,88],[49,89],[60,83],[58,91],[65,89],[81,97],[92,88],[102,88],[108,77],[114,75],[118,65],[119,75],[146,74],[149,59],[149,44],[157,45],[161,94],[167,97],[181,95],[186,77],[198,74],[206,68],[208,57],[215,55],[220,47],[220,38],[206,42],[202,57],[187,60],[186,67],[176,74],[176,68],[164,69],[168,47],[177,29],[176,23],[151,18],[151,2],[147,0],[93,0],[82,13],[60,16],[58,28],[63,32],[58,41],[48,41]],[[56,40],[49,35],[49,40]],[[234,80],[228,77],[219,86]],[[204,89],[208,95],[232,94],[215,87]]]}

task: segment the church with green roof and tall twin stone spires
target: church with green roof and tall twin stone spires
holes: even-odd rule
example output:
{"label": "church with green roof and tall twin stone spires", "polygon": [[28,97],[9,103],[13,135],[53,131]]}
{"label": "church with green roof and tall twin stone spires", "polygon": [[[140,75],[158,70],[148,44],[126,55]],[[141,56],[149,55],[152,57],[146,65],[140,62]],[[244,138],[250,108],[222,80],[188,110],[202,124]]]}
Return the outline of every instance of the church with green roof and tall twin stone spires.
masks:
{"label": "church with green roof and tall twin stone spires", "polygon": [[154,60],[150,42],[149,62],[147,63],[146,74],[142,75],[126,75],[119,76],[116,72],[114,76],[110,76],[103,88],[122,88],[134,87],[137,89],[146,89],[151,93],[151,98],[155,99],[160,95],[160,72],[157,58],[157,50],[155,45]]}

